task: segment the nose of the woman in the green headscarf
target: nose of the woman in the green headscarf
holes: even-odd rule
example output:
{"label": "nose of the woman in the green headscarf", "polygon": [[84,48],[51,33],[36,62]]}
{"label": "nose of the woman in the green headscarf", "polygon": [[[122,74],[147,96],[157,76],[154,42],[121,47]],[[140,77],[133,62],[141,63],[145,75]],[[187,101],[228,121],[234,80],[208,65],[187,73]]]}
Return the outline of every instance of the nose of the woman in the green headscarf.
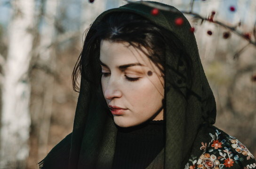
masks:
{"label": "nose of the woman in the green headscarf", "polygon": [[120,98],[122,92],[120,91],[120,85],[117,79],[109,78],[107,86],[104,91],[105,99],[112,100],[114,98]]}

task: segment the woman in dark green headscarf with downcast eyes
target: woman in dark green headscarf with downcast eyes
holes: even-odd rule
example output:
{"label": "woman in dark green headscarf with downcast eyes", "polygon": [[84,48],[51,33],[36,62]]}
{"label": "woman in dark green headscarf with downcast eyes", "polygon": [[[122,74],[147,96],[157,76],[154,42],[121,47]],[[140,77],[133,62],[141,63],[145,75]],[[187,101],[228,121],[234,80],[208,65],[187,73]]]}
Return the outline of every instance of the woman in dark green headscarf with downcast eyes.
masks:
{"label": "woman in dark green headscarf with downcast eyes", "polygon": [[[152,15],[136,2],[96,18],[73,72],[74,80],[81,73],[73,131],[40,168],[256,165],[244,145],[212,125],[216,103],[195,37],[184,15],[170,8]],[[177,26],[176,18],[184,23]]]}

